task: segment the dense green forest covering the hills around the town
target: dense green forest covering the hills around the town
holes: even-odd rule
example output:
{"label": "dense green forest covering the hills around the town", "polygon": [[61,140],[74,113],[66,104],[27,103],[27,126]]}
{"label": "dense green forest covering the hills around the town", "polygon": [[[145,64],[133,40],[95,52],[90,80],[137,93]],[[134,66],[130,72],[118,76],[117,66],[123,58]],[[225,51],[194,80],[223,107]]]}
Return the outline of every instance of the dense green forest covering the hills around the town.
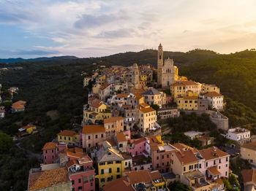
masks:
{"label": "dense green forest covering the hills around the town", "polygon": [[[165,52],[164,56],[173,58],[181,74],[190,79],[220,86],[222,93],[229,97],[226,99],[227,109],[224,114],[230,118],[230,125],[246,125],[255,132],[253,130],[256,120],[254,99],[256,52],[244,51],[233,55],[219,55],[209,50],[192,50]],[[26,112],[7,113],[6,118],[0,121],[0,132],[13,136],[20,126],[34,123],[39,128],[39,133],[26,136],[20,141],[20,146],[32,152],[41,152],[43,144],[51,141],[60,130],[80,128],[75,124],[80,123],[82,119],[82,108],[83,104],[86,104],[88,93],[86,88],[82,88],[83,75],[81,74],[84,71],[90,75],[92,70],[100,65],[129,66],[135,62],[139,65],[150,63],[156,66],[157,50],[126,52],[102,58],[71,57],[0,63],[0,68],[9,69],[0,73],[0,83],[3,85],[2,98],[8,99],[7,88],[16,86],[20,90],[13,101],[28,102]],[[97,63],[97,66],[92,63]],[[22,69],[15,70],[14,67],[22,67]],[[3,103],[7,109],[11,104],[11,102]],[[168,125],[174,133],[165,139],[182,140],[185,144],[198,146],[198,141],[188,141],[183,133],[185,130],[195,129],[209,130],[211,136],[217,137],[219,144],[225,142],[221,136],[218,136],[216,127],[205,115],[197,117],[195,114],[182,114],[176,120],[168,122]],[[26,153],[10,140],[9,136],[1,134],[0,190],[24,190],[29,168],[37,165],[39,161],[36,158],[26,160]]]}

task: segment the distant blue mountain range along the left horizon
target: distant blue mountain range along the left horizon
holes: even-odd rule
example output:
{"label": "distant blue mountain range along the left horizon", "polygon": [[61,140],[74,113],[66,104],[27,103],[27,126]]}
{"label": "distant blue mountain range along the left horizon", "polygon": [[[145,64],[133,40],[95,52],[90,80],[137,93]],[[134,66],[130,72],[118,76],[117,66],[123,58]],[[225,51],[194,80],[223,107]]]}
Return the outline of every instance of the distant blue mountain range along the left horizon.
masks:
{"label": "distant blue mountain range along the left horizon", "polygon": [[69,55],[65,55],[65,56],[53,56],[53,57],[40,57],[40,58],[28,58],[28,59],[24,59],[24,58],[0,58],[0,63],[19,63],[19,62],[27,62],[27,61],[50,61],[50,60],[59,60],[59,59],[66,59],[66,60],[75,60],[78,59],[78,57],[75,56],[69,56]]}

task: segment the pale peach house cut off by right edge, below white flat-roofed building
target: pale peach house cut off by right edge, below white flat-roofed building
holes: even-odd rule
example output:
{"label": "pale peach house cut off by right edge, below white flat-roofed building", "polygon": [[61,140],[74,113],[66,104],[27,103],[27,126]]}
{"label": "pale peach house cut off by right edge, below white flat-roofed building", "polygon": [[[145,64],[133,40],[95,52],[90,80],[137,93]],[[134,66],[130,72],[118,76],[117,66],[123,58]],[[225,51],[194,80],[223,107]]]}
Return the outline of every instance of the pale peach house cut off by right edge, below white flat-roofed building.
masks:
{"label": "pale peach house cut off by right edge, below white flat-roofed building", "polygon": [[256,165],[256,141],[241,146],[241,158],[248,160],[252,165]]}

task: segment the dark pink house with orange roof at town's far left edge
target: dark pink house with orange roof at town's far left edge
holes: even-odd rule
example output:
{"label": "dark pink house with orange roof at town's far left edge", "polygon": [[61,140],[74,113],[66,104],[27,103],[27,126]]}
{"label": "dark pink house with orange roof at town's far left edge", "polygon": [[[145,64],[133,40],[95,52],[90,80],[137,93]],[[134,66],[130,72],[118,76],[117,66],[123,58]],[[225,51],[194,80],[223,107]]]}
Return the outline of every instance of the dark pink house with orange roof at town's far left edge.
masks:
{"label": "dark pink house with orange roof at town's far left edge", "polygon": [[51,164],[56,163],[59,160],[59,152],[67,149],[66,144],[56,144],[54,142],[48,142],[42,147],[43,163]]}

